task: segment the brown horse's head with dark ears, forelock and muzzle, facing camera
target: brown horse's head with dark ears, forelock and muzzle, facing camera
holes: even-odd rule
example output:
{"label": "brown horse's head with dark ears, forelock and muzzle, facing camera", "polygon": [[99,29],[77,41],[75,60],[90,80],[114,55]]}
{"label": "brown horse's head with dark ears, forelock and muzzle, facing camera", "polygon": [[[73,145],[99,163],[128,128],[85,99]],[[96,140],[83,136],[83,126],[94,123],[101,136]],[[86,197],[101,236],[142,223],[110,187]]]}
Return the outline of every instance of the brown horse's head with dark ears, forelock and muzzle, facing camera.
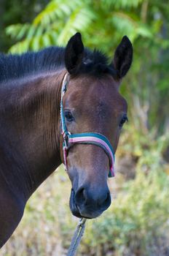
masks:
{"label": "brown horse's head with dark ears, forelock and muzzle, facing camera", "polygon": [[[81,34],[71,37],[65,50],[68,75],[66,92],[61,99],[69,135],[101,135],[115,154],[122,125],[127,120],[127,102],[119,93],[119,85],[130,69],[132,58],[133,48],[126,36],[110,64],[100,52],[92,54],[84,49]],[[60,141],[62,148],[63,138]],[[95,143],[74,143],[67,148],[65,161],[72,184],[71,211],[76,217],[98,217],[111,204],[108,154]]]}

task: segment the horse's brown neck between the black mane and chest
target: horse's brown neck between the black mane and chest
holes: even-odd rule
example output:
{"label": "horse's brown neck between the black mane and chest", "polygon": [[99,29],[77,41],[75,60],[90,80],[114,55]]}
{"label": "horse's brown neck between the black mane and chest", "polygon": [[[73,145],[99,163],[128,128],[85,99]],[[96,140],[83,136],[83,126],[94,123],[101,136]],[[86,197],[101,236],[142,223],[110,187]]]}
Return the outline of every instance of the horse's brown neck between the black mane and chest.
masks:
{"label": "horse's brown neck between the black mane and chest", "polygon": [[63,75],[60,72],[31,78],[4,93],[5,106],[3,100],[0,106],[0,176],[25,200],[61,163],[59,106]]}

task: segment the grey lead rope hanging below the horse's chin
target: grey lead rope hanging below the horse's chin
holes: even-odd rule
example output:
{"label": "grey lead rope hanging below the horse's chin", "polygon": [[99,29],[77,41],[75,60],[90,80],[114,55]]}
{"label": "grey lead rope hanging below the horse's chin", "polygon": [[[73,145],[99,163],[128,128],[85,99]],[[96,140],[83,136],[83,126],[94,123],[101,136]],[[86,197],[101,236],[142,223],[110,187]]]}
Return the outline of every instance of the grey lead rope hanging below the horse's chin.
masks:
{"label": "grey lead rope hanging below the horse's chin", "polygon": [[85,222],[87,219],[82,218],[79,220],[79,224],[76,226],[76,230],[74,232],[74,236],[71,240],[71,245],[68,248],[67,256],[74,256],[76,253],[76,249],[79,246],[79,243],[84,234]]}

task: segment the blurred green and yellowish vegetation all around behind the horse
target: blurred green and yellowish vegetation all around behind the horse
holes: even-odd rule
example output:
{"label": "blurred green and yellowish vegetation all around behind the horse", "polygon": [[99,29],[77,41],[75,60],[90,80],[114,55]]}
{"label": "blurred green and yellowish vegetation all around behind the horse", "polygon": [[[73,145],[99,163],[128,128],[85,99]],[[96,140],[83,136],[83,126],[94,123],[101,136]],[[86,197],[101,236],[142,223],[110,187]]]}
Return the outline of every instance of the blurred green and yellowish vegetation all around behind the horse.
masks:
{"label": "blurred green and yellowish vegetation all around behind the horse", "polygon": [[[78,255],[169,255],[169,4],[165,0],[1,0],[0,51],[66,45],[76,31],[110,59],[126,34],[134,59],[121,92],[129,123],[109,180],[113,203],[87,222]],[[62,167],[28,202],[1,255],[66,255],[77,219]]]}

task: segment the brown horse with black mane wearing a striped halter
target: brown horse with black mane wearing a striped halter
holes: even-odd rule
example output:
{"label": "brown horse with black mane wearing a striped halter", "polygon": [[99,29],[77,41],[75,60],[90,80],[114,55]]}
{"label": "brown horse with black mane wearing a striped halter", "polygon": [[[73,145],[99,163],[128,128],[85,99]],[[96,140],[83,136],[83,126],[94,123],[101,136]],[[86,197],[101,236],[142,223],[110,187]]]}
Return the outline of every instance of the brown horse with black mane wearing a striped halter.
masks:
{"label": "brown horse with black mane wearing a striped halter", "polygon": [[[72,185],[74,216],[93,219],[109,208],[111,153],[127,121],[119,85],[132,59],[127,36],[109,61],[101,51],[84,48],[80,33],[66,48],[0,54],[0,247],[29,197],[61,163]],[[84,138],[75,141],[74,134]]]}

